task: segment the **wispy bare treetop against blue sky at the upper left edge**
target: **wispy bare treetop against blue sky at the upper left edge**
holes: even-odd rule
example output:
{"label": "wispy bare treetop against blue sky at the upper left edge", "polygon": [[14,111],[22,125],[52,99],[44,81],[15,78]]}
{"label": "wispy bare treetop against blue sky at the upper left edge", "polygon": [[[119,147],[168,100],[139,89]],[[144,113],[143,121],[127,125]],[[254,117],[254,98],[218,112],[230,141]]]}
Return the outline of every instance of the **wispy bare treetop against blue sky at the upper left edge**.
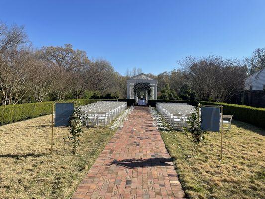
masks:
{"label": "wispy bare treetop against blue sky at the upper left edge", "polygon": [[8,27],[0,22],[0,53],[8,49],[15,49],[23,43],[27,42],[27,35],[24,27],[13,25]]}

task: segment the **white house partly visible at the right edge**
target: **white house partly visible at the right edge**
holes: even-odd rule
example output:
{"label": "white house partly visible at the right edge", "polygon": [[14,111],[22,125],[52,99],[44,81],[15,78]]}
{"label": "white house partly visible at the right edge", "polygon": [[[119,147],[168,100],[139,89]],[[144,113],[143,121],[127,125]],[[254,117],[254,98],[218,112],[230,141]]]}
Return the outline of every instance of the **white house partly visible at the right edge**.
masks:
{"label": "white house partly visible at the right edge", "polygon": [[265,68],[253,73],[244,81],[245,90],[265,90]]}

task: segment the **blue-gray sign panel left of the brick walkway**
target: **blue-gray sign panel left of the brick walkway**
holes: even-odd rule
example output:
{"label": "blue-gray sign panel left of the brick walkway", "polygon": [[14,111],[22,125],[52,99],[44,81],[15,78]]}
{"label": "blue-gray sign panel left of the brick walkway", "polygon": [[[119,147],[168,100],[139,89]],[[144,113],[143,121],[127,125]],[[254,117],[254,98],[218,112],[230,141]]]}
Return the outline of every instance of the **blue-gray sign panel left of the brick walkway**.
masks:
{"label": "blue-gray sign panel left of the brick walkway", "polygon": [[55,127],[68,126],[69,119],[74,112],[73,103],[56,103],[55,104]]}

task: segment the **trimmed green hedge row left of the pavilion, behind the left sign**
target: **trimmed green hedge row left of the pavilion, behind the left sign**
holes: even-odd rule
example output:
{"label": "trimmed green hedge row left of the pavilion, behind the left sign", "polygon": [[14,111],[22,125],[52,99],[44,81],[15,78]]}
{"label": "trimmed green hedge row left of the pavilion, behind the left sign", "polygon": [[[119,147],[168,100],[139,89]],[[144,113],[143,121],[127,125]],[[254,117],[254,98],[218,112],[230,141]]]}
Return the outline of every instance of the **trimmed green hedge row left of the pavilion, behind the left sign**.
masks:
{"label": "trimmed green hedge row left of the pavilion, behind the left sign", "polygon": [[[66,102],[77,102],[78,105],[86,105],[89,103],[95,103],[97,101],[117,101],[117,100],[77,99],[77,100],[67,100]],[[135,103],[134,102],[135,100],[133,99],[132,100],[118,99],[118,101],[124,101],[124,102],[126,101],[127,106],[131,106],[133,103]],[[52,114],[52,104],[53,101],[0,106],[0,125]]]}

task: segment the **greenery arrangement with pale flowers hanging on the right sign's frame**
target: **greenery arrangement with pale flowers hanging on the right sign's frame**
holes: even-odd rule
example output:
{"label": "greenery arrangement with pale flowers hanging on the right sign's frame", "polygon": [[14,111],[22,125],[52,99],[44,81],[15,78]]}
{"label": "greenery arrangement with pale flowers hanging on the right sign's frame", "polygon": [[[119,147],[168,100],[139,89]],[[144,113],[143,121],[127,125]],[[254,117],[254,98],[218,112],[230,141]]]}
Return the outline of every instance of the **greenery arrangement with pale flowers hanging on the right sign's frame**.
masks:
{"label": "greenery arrangement with pale flowers hanging on the right sign's frame", "polygon": [[193,150],[197,151],[198,147],[202,146],[205,141],[205,133],[206,131],[203,131],[201,129],[201,120],[198,115],[198,109],[200,107],[200,103],[198,106],[196,106],[195,113],[192,113],[190,117],[188,117],[187,123],[190,124],[190,127],[184,127],[184,134],[188,137],[189,134],[191,136],[189,137],[193,142]]}

